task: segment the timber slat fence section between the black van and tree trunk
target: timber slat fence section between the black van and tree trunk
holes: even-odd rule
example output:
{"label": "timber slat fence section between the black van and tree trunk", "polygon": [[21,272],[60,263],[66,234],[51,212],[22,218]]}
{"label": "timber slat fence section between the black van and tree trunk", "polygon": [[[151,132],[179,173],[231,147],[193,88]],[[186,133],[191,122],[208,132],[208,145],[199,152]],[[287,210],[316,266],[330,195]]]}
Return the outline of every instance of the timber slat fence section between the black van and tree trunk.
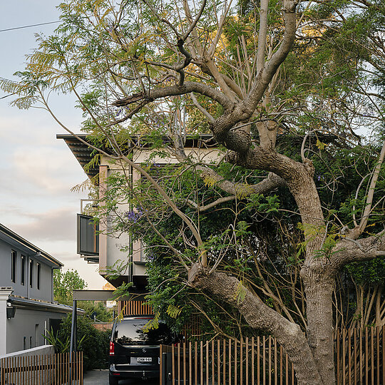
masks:
{"label": "timber slat fence section between the black van and tree trunk", "polygon": [[166,373],[161,370],[160,384],[297,384],[287,354],[276,339],[265,336],[161,345],[160,367],[168,367]]}

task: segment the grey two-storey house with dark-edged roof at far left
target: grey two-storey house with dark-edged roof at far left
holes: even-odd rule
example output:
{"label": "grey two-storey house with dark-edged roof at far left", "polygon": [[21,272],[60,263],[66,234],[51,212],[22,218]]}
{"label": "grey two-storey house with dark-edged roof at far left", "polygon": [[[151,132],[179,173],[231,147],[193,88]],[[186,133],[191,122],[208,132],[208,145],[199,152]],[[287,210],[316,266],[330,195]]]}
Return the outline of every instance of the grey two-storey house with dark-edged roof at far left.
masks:
{"label": "grey two-storey house with dark-edged roof at far left", "polygon": [[0,224],[0,356],[46,344],[71,307],[53,302],[53,270],[63,264]]}

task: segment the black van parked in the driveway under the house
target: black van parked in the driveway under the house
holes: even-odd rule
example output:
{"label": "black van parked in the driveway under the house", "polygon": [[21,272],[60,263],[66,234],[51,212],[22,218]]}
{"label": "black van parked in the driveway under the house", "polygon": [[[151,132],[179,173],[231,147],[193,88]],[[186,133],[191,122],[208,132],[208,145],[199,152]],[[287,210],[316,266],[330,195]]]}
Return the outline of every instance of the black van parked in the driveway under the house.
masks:
{"label": "black van parked in the driveway under the house", "polygon": [[173,344],[175,338],[163,322],[156,329],[147,325],[153,317],[124,317],[113,324],[110,341],[110,385],[119,379],[159,377],[160,344]]}

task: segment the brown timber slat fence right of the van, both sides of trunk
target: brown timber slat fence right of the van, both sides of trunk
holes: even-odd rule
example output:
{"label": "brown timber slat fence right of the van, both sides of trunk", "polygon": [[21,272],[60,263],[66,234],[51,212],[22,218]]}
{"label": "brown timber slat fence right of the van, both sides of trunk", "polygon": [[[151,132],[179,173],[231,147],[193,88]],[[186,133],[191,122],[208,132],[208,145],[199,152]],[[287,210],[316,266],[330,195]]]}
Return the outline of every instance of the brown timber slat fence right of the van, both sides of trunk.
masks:
{"label": "brown timber slat fence right of the van, both sides of trunk", "polygon": [[[385,327],[337,330],[338,385],[385,385]],[[162,385],[295,385],[287,354],[272,337],[160,346]]]}

